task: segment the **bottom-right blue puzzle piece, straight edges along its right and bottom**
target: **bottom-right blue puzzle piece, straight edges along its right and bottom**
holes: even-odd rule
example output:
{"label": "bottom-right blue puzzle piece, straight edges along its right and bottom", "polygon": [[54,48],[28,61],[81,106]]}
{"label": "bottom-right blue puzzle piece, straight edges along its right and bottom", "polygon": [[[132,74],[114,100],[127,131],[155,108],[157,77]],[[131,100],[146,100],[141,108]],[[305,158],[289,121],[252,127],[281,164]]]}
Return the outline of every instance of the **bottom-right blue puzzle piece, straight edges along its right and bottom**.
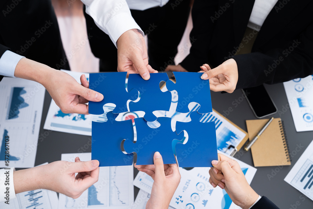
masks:
{"label": "bottom-right blue puzzle piece, straight edges along its right and bottom", "polygon": [[199,121],[202,114],[194,111],[191,121],[176,122],[176,132],[188,133],[186,144],[176,144],[176,156],[179,167],[213,167],[212,160],[218,160],[215,123]]}

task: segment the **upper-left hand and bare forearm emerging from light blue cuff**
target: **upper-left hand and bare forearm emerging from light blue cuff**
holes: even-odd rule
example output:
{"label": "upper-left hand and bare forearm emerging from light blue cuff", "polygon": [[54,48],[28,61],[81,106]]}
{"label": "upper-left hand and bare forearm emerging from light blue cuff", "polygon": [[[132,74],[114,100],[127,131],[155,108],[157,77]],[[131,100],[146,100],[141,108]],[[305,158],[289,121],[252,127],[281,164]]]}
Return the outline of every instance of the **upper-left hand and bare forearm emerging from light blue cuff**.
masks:
{"label": "upper-left hand and bare forearm emerging from light blue cuff", "polygon": [[69,74],[27,58],[18,62],[14,76],[41,83],[64,113],[88,114],[86,103],[103,99],[102,94],[89,89],[85,75],[80,76],[80,85]]}

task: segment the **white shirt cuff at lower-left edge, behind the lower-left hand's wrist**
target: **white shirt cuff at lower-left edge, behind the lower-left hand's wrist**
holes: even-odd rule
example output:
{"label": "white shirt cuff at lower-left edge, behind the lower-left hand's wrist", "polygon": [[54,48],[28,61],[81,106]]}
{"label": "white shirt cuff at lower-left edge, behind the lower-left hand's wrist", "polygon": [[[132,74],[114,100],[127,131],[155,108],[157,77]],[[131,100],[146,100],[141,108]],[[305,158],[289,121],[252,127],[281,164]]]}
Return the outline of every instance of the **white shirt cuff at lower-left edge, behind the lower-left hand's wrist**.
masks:
{"label": "white shirt cuff at lower-left edge, behind the lower-left hand's wrist", "polygon": [[10,203],[10,200],[16,198],[13,184],[14,170],[14,167],[0,169],[0,202]]}

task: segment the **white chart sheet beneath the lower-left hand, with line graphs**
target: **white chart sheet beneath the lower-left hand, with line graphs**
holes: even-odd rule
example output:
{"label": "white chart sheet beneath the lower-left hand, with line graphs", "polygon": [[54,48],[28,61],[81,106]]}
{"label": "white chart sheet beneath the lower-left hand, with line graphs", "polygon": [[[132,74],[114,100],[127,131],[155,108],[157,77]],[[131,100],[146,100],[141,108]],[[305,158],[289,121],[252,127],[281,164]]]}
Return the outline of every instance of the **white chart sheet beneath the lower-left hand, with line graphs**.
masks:
{"label": "white chart sheet beneath the lower-left hand, with line graphs", "polygon": [[[88,161],[91,159],[91,153],[62,154],[61,160],[74,162],[75,157]],[[132,165],[100,167],[98,182],[90,186],[79,198],[73,199],[59,194],[59,209],[128,209],[134,203],[133,179]]]}

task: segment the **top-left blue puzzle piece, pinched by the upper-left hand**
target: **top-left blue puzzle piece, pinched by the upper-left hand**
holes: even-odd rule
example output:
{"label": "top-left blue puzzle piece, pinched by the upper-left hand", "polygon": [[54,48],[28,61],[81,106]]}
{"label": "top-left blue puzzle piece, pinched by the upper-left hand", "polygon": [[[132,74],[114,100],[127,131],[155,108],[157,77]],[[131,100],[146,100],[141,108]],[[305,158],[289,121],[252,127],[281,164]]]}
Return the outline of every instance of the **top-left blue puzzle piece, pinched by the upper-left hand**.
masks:
{"label": "top-left blue puzzle piece, pinched by the upper-left hand", "polygon": [[134,101],[139,95],[136,89],[126,91],[126,75],[127,72],[89,74],[89,88],[100,92],[104,96],[101,102],[89,102],[90,114],[103,114],[103,105],[107,103],[116,105],[113,113],[128,112],[127,101],[129,99]]}

